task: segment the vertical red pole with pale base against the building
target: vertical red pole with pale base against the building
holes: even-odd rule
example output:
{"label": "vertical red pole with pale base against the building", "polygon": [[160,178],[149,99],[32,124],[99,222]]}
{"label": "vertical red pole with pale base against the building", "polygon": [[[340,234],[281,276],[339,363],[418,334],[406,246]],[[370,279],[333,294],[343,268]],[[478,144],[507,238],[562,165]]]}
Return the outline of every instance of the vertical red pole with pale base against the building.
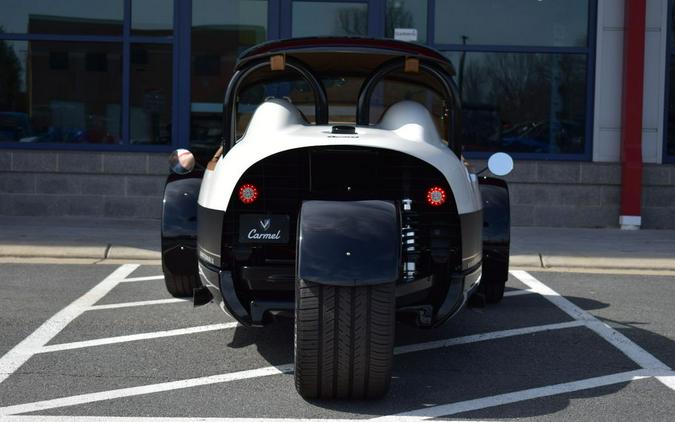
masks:
{"label": "vertical red pole with pale base against the building", "polygon": [[621,129],[622,229],[639,229],[642,201],[642,95],[646,0],[625,0]]}

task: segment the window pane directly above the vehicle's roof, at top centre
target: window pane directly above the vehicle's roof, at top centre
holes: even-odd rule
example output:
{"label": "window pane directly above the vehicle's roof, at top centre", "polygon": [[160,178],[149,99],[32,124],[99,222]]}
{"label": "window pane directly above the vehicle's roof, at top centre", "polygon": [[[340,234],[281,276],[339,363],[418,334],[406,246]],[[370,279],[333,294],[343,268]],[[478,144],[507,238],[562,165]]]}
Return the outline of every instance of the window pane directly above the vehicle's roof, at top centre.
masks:
{"label": "window pane directly above the vehicle's roof, at top centre", "polygon": [[368,5],[341,2],[293,2],[294,37],[366,36]]}

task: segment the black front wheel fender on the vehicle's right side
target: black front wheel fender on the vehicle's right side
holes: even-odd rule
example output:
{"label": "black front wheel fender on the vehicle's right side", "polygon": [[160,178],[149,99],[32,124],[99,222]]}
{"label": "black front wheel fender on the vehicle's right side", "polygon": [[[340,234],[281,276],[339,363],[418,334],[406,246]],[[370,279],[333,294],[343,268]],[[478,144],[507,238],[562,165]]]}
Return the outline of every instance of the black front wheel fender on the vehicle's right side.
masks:
{"label": "black front wheel fender on the vehicle's right side", "polygon": [[509,188],[502,179],[481,177],[483,200],[483,279],[505,281],[509,270],[511,211]]}

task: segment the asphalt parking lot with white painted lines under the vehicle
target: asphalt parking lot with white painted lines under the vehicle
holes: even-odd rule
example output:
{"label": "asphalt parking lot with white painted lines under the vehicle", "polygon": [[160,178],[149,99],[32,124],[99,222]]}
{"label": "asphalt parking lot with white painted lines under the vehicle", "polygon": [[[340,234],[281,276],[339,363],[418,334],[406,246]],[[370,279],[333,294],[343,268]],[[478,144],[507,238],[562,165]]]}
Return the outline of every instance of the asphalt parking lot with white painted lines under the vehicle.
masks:
{"label": "asphalt parking lot with white painted lines under the vehicle", "polygon": [[0,419],[672,420],[675,278],[512,271],[504,301],[397,327],[391,391],[304,401],[293,325],[237,326],[158,266],[2,264]]}

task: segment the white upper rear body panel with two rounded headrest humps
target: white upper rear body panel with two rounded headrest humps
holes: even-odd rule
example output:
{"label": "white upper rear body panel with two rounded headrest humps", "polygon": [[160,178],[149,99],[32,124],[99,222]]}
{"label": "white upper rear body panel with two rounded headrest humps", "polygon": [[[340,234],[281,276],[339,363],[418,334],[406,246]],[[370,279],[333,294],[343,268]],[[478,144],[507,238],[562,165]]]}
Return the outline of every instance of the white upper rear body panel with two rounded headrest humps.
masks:
{"label": "white upper rear body panel with two rounded headrest humps", "polygon": [[412,101],[397,103],[387,110],[379,125],[357,126],[356,132],[356,135],[332,134],[331,126],[305,123],[292,104],[267,101],[255,111],[241,140],[218,161],[213,171],[205,172],[199,205],[226,211],[244,172],[271,155],[296,148],[353,145],[398,151],[421,159],[445,176],[459,214],[482,208],[478,179],[439,139],[431,116],[422,105]]}

